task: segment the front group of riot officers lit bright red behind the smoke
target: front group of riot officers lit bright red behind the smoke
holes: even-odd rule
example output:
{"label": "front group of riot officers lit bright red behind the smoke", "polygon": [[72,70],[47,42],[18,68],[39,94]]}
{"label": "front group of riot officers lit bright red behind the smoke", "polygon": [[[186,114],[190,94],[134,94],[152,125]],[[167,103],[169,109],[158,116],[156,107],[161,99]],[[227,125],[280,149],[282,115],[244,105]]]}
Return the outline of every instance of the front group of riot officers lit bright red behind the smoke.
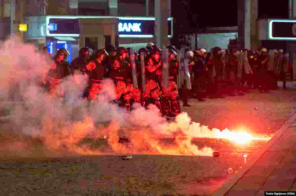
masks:
{"label": "front group of riot officers lit bright red behind the smoke", "polygon": [[[66,61],[69,52],[62,48],[53,57],[54,63],[44,77],[43,85],[53,96],[63,97],[65,92],[61,92],[59,84],[68,75],[80,72],[89,79],[83,98],[91,104],[105,98],[102,81],[111,78],[116,98],[108,101],[128,111],[132,110],[133,103],[139,103],[145,108],[154,104],[162,116],[174,117],[181,113],[177,83],[185,79],[178,76],[182,70],[186,70],[181,70],[179,66],[182,52],[184,62],[184,51],[177,52],[174,46],[159,49],[153,43],[148,43],[146,48],[138,52],[133,48],[116,49],[108,46],[92,53],[89,47],[83,47],[79,50],[79,56],[69,65]],[[187,81],[190,83],[188,65],[187,73]]]}

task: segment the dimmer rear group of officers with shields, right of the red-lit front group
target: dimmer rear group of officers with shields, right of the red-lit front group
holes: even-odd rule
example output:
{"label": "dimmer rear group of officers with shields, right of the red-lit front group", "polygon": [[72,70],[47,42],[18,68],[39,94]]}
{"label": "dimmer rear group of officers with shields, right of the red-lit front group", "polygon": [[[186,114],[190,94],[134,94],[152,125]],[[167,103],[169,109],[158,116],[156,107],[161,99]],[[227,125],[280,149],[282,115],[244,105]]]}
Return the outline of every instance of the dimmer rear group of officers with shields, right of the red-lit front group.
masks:
{"label": "dimmer rear group of officers with shields, right of the red-lit front group", "polygon": [[263,48],[259,52],[214,47],[210,52],[200,49],[188,54],[191,79],[194,78],[191,96],[199,101],[205,101],[205,97],[244,95],[252,87],[269,92],[278,88],[278,79],[283,80],[283,88],[286,88],[289,53],[282,49]]}

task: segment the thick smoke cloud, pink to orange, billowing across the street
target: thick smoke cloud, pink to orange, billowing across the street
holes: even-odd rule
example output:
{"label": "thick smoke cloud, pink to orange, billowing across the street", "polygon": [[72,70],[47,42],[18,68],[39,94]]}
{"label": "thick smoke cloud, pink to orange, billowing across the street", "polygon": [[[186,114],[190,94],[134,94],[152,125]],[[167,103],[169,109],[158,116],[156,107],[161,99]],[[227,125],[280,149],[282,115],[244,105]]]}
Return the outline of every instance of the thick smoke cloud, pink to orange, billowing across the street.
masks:
{"label": "thick smoke cloud, pink to orange, billowing across the street", "polygon": [[[212,149],[198,149],[191,139],[212,136],[213,131],[191,123],[186,113],[168,123],[154,105],[145,110],[135,104],[135,109],[127,112],[108,102],[115,98],[114,83],[110,79],[103,82],[104,101],[89,108],[81,98],[88,78],[79,73],[63,79],[58,87],[65,90],[65,99],[53,97],[40,85],[52,61],[48,55],[36,52],[33,45],[23,44],[16,37],[1,43],[0,59],[0,98],[16,97],[19,100],[10,111],[9,120],[20,128],[19,134],[40,138],[51,156],[55,155],[52,152],[59,151],[131,153],[126,144],[118,143],[120,134],[132,141],[133,153],[212,155]],[[91,149],[89,145],[78,146],[86,137],[96,140],[103,136],[108,138],[105,146],[97,149]],[[184,136],[187,139],[181,139]],[[163,144],[160,140],[164,137],[175,138],[174,144]]]}

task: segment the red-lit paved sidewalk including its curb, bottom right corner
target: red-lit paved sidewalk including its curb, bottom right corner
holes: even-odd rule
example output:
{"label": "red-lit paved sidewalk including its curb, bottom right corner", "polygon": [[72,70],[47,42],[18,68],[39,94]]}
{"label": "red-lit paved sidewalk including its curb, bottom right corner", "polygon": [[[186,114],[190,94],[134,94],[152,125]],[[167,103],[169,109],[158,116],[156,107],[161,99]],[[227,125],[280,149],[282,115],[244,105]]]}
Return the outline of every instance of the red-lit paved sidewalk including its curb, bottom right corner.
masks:
{"label": "red-lit paved sidewalk including its curb, bottom right corner", "polygon": [[263,196],[296,191],[296,114],[212,196]]}

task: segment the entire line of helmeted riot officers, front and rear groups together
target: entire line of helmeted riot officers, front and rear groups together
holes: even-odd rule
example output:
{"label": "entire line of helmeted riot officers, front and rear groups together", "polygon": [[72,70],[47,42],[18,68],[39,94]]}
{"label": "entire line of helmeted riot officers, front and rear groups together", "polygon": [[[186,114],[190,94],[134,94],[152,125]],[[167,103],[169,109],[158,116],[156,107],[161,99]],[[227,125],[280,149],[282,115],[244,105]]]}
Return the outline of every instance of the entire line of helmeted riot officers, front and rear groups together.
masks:
{"label": "entire line of helmeted riot officers, front and rear groups together", "polygon": [[[185,52],[171,45],[159,49],[153,43],[138,52],[113,46],[92,52],[83,47],[71,65],[66,61],[67,55],[66,49],[57,51],[54,64],[43,80],[52,95],[64,96],[65,92],[57,87],[66,76],[80,72],[89,78],[88,88],[83,93],[86,100],[102,101],[106,96],[102,81],[111,78],[116,91],[116,98],[110,100],[112,103],[127,110],[132,109],[133,103],[145,108],[152,103],[168,117],[181,113],[178,89],[183,106],[190,106],[188,90],[199,101],[205,101],[205,97],[224,98],[225,94],[244,95],[252,84],[268,92],[271,83],[277,87],[278,77],[285,82],[289,64],[289,54],[283,50],[229,51],[214,47],[210,52],[205,49]],[[252,80],[251,75],[257,80]],[[228,92],[219,88],[222,83],[227,84]]]}

